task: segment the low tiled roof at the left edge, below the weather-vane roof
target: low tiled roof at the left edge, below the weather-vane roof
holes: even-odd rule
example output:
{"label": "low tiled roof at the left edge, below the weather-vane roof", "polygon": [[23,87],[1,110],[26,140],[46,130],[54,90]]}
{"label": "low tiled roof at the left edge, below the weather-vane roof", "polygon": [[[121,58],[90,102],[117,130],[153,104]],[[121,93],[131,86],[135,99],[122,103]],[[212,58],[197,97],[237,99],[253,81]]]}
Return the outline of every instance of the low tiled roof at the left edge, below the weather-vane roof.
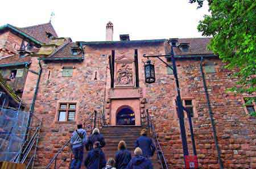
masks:
{"label": "low tiled roof at the left edge, below the weather-vane roof", "polygon": [[18,64],[18,63],[23,63],[23,62],[31,62],[31,57],[28,55],[26,57],[20,58],[19,54],[14,54],[11,56],[7,57],[2,57],[0,58],[0,65],[5,65],[5,64]]}

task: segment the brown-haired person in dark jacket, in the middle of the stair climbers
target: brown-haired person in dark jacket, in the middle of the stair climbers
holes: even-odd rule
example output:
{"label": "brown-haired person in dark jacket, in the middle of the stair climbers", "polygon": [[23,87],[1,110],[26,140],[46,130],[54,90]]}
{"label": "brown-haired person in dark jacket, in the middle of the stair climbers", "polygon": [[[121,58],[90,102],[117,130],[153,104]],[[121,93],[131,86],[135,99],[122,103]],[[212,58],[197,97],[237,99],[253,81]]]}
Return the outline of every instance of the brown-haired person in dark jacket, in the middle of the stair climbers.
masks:
{"label": "brown-haired person in dark jacket, in the middle of the stair climbers", "polygon": [[126,149],[125,141],[118,143],[118,151],[115,153],[115,167],[117,169],[125,169],[131,160],[131,153]]}

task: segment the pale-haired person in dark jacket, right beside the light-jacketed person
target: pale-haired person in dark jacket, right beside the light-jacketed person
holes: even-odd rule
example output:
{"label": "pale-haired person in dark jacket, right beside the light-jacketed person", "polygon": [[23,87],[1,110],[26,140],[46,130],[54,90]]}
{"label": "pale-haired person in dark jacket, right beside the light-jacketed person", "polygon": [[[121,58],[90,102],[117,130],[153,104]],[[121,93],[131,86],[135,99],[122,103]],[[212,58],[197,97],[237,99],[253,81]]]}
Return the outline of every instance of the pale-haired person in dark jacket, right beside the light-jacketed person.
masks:
{"label": "pale-haired person in dark jacket, right beside the light-jacketed person", "polygon": [[98,128],[93,129],[92,134],[88,137],[86,150],[92,150],[96,141],[100,142],[101,148],[105,146],[105,139],[102,134],[100,134],[100,130]]}

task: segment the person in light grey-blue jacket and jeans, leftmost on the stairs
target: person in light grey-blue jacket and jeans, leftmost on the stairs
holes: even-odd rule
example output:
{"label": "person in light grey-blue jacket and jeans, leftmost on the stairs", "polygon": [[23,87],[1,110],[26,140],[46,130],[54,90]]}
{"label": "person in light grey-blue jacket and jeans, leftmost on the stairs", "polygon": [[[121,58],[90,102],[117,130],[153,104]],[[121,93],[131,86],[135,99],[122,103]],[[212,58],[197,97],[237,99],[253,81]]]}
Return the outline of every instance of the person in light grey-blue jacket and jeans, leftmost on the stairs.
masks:
{"label": "person in light grey-blue jacket and jeans, leftmost on the stairs", "polygon": [[82,129],[82,124],[77,125],[77,130],[73,132],[70,141],[74,157],[71,163],[71,169],[81,168],[82,157],[84,155],[84,145],[86,143],[86,140],[86,130]]}

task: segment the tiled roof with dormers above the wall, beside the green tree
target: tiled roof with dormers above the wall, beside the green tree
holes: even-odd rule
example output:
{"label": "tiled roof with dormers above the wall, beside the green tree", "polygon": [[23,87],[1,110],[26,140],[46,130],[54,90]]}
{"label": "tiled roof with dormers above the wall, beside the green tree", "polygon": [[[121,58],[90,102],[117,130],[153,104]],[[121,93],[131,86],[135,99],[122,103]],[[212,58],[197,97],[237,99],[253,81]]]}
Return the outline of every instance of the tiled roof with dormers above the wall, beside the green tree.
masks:
{"label": "tiled roof with dormers above the wall, beside the green tree", "polygon": [[200,38],[185,38],[178,39],[178,44],[189,43],[189,49],[187,52],[181,51],[179,48],[174,48],[175,55],[201,55],[201,54],[213,54],[211,50],[207,49],[207,45],[210,42],[210,37]]}

